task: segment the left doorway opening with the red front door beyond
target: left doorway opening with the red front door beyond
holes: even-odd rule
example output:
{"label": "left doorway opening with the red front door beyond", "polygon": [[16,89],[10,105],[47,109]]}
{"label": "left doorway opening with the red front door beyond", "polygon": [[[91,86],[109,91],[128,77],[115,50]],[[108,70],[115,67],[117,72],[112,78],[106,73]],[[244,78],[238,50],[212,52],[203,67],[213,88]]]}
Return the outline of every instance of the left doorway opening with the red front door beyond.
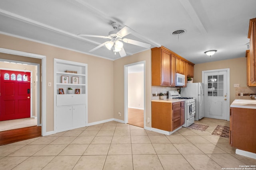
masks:
{"label": "left doorway opening with the red front door beyond", "polygon": [[[10,57],[7,54],[5,56]],[[2,119],[0,121],[0,131],[41,126],[40,82],[38,81],[38,77],[40,77],[40,64],[0,59],[0,68],[3,75],[1,76],[0,85],[4,89],[7,88],[6,90],[1,89],[1,101],[4,103],[1,103]],[[10,73],[9,75],[9,72],[12,74]],[[7,76],[6,78],[4,73]],[[12,78],[9,78],[8,75],[12,76]],[[24,86],[25,84],[27,85]],[[22,88],[25,89],[22,90]],[[10,94],[10,91],[14,92],[14,94]],[[10,105],[13,106],[10,107]],[[6,114],[4,114],[5,112]]]}

